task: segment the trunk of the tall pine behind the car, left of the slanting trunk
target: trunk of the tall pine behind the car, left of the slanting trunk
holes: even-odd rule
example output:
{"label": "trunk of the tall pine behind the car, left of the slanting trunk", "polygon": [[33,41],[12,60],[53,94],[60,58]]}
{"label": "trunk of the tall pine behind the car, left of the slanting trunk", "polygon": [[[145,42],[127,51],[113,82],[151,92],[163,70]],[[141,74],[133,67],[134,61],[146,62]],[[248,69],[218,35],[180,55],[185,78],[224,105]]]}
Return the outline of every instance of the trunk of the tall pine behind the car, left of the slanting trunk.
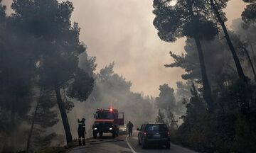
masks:
{"label": "trunk of the tall pine behind the car, left of the slanting trunk", "polygon": [[[191,21],[192,23],[197,22],[197,18],[195,17],[193,13],[193,4],[191,0],[187,0],[188,2],[188,10],[191,16]],[[212,113],[214,111],[213,107],[213,97],[211,94],[211,87],[210,83],[208,81],[208,76],[206,73],[206,64],[204,61],[203,57],[203,49],[201,46],[200,39],[198,38],[198,35],[195,33],[194,34],[194,40],[196,41],[196,47],[198,50],[198,57],[199,57],[199,62],[200,62],[200,68],[201,68],[201,75],[202,75],[202,81],[203,81],[203,98],[205,99],[206,103],[208,104],[208,111]]]}

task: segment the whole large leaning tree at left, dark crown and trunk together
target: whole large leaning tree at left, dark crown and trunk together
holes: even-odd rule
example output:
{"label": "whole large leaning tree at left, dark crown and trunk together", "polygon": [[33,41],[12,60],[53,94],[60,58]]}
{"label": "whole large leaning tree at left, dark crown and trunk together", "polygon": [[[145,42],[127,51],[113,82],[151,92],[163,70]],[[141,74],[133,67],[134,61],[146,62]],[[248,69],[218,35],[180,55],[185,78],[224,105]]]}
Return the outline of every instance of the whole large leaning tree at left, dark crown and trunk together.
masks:
{"label": "whole large leaning tree at left, dark crown and trunk together", "polygon": [[[63,101],[60,91],[68,91],[69,98],[85,101],[92,92],[94,79],[92,71],[95,60],[88,57],[85,45],[80,42],[78,23],[71,23],[74,10],[70,1],[57,0],[14,0],[11,8],[15,11],[14,21],[18,29],[34,38],[32,47],[36,55],[38,85],[43,90],[55,91],[58,108],[63,120],[67,142],[72,135],[66,113],[73,108],[67,97]],[[47,46],[47,47],[41,47]],[[89,72],[78,67],[78,59],[85,54]]]}

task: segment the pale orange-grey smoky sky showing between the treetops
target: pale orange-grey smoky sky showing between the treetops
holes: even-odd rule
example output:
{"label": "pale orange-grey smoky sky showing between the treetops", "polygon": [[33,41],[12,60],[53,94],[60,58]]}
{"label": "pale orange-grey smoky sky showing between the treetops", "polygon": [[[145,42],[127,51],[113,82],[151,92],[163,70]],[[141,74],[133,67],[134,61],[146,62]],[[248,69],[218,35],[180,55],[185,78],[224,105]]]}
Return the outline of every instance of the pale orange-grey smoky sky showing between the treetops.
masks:
{"label": "pale orange-grey smoky sky showing between the treetops", "polygon": [[[181,54],[185,38],[174,43],[161,41],[152,22],[152,0],[72,0],[72,20],[81,28],[80,40],[88,55],[97,57],[97,71],[115,63],[114,72],[132,81],[132,91],[157,96],[160,84],[176,89],[183,69],[165,68],[173,62],[169,51]],[[10,4],[11,0],[4,0]],[[242,0],[230,1],[225,13],[228,26],[240,18]]]}

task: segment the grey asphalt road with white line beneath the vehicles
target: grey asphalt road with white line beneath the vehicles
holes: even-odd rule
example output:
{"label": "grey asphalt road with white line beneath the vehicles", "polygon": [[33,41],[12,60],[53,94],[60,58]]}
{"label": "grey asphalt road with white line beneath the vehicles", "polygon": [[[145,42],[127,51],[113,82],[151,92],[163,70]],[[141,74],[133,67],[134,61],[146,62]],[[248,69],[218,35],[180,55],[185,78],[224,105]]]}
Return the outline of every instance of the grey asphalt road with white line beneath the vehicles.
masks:
{"label": "grey asphalt road with white line beneath the vehicles", "polygon": [[69,153],[144,153],[144,152],[156,152],[156,153],[196,153],[189,149],[180,147],[178,145],[171,144],[171,149],[165,147],[149,147],[148,149],[142,149],[138,145],[137,131],[134,131],[133,137],[127,137],[122,135],[112,139],[111,135],[104,134],[102,138],[87,140],[85,146],[75,147]]}

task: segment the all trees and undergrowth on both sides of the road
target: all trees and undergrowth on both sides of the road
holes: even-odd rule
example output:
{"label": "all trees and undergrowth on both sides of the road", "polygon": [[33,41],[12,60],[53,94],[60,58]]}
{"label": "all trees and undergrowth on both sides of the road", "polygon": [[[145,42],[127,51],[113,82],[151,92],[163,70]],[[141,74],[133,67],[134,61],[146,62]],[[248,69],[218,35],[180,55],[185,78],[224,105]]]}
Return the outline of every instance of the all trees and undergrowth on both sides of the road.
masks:
{"label": "all trees and undergrowth on both sides of the road", "polygon": [[73,120],[87,116],[91,133],[93,114],[110,104],[134,128],[166,123],[172,142],[198,152],[256,152],[256,1],[243,0],[230,28],[228,1],[153,1],[159,38],[186,38],[165,65],[184,69],[183,81],[153,97],[133,92],[114,62],[95,72],[70,1],[14,0],[7,15],[0,0],[0,152],[65,152]]}

